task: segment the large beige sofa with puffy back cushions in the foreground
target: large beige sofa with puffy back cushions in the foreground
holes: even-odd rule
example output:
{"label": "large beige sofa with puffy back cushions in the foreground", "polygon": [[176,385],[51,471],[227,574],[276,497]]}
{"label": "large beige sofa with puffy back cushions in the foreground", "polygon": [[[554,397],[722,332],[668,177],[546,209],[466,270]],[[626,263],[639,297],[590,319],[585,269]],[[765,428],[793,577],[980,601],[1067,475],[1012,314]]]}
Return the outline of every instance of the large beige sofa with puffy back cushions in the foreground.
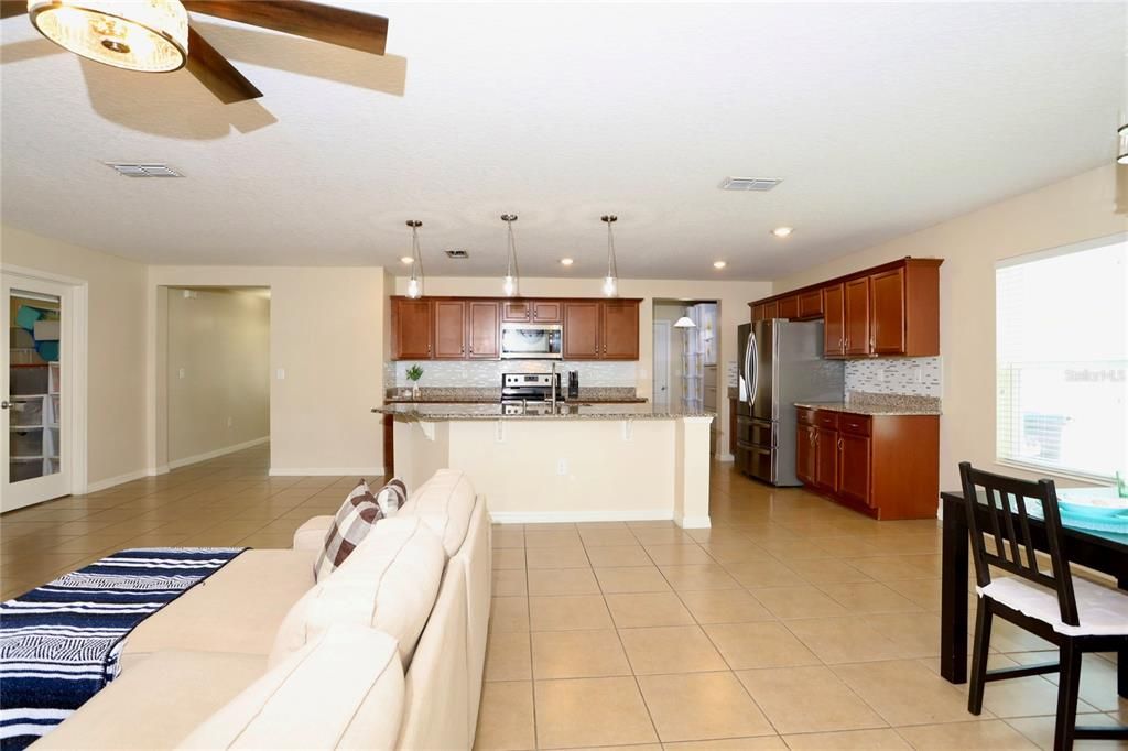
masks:
{"label": "large beige sofa with puffy back cushions in the foreground", "polygon": [[485,498],[440,470],[314,580],[332,518],[248,550],[130,635],[35,749],[469,749],[491,587]]}

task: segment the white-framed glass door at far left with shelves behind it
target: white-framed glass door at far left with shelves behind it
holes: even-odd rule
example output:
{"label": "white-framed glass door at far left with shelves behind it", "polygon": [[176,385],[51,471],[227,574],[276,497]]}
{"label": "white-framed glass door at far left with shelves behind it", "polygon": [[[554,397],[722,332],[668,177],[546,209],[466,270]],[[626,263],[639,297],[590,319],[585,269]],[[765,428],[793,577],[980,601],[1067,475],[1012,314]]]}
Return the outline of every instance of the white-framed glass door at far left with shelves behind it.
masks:
{"label": "white-framed glass door at far left with shelves behind it", "polygon": [[0,279],[0,511],[11,511],[71,492],[74,288]]}

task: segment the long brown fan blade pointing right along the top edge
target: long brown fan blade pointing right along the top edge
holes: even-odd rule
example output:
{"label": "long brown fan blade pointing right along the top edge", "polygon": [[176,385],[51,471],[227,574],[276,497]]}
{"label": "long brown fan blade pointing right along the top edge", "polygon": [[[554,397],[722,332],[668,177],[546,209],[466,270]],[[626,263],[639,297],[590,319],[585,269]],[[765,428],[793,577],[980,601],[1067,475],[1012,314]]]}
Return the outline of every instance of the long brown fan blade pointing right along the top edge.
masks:
{"label": "long brown fan blade pointing right along the top edge", "polygon": [[261,26],[275,32],[327,42],[351,50],[382,55],[388,41],[388,19],[345,8],[303,0],[183,0],[193,12]]}

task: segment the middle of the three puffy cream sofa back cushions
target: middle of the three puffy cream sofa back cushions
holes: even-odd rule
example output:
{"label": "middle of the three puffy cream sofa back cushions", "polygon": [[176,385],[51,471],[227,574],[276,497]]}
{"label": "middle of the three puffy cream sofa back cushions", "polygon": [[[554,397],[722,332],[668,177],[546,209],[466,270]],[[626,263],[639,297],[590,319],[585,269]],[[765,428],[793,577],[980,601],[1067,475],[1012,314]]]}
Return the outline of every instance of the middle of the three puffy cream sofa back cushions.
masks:
{"label": "middle of the three puffy cream sofa back cushions", "polygon": [[341,568],[285,615],[270,665],[340,625],[378,628],[396,637],[406,665],[434,606],[444,565],[442,545],[422,520],[381,520]]}

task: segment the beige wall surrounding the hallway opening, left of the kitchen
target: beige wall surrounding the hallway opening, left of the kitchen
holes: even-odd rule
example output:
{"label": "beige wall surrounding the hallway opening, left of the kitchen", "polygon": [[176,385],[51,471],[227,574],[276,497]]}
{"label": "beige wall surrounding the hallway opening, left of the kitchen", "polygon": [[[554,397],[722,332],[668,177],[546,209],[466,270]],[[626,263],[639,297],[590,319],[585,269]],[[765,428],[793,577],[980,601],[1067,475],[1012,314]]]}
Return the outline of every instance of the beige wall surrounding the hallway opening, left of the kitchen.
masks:
{"label": "beige wall surrounding the hallway opening, left of the kitchen", "polygon": [[[386,328],[381,267],[150,266],[147,306],[151,378],[150,467],[168,462],[158,385],[167,369],[160,330],[168,286],[271,289],[270,425],[273,474],[374,475],[382,470],[380,418]],[[285,371],[285,379],[277,371]]]}

